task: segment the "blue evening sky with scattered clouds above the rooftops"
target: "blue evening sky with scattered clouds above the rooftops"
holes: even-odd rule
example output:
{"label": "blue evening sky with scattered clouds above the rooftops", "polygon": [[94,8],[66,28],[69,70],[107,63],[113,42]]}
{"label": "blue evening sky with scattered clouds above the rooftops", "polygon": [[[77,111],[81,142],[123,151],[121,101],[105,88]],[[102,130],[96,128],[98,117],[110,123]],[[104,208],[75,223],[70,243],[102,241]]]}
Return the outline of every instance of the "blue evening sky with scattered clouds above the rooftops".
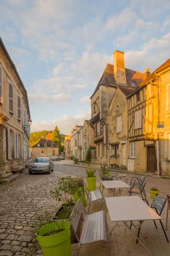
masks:
{"label": "blue evening sky with scattered clouds above the rooftops", "polygon": [[170,58],[169,0],[0,0],[0,37],[26,87],[31,131],[71,134],[113,52],[153,72]]}

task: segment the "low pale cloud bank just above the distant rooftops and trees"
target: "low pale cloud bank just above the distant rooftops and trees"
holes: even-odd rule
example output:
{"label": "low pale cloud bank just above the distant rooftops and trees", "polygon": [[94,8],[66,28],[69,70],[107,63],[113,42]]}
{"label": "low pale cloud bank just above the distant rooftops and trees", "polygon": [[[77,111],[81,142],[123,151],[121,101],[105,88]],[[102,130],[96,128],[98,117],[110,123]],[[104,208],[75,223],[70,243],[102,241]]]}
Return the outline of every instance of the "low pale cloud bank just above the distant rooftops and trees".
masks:
{"label": "low pale cloud bank just above the distant rooftops and trees", "polygon": [[77,125],[83,125],[85,119],[91,118],[91,112],[86,111],[84,113],[77,114],[75,116],[68,116],[63,115],[59,118],[56,118],[51,121],[42,121],[42,122],[36,122],[33,120],[31,125],[31,132],[32,131],[42,131],[44,129],[46,130],[54,130],[55,126],[57,125],[59,128],[59,131],[62,134],[71,134],[71,129],[77,124]]}

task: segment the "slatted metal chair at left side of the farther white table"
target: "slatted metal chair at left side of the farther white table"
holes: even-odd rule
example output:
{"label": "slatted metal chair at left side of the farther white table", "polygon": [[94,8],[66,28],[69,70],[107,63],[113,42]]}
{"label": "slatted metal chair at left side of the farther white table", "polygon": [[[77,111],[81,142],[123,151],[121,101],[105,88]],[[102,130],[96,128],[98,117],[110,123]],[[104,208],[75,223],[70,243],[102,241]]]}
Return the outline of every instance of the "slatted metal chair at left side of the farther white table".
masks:
{"label": "slatted metal chair at left side of the farther white table", "polygon": [[87,200],[90,201],[90,204],[89,204],[89,207],[88,207],[88,212],[89,212],[91,203],[95,202],[95,201],[98,201],[98,200],[104,200],[105,209],[106,209],[106,212],[107,212],[105,198],[104,198],[102,192],[100,191],[100,189],[95,189],[93,191],[88,191],[88,187],[87,187],[85,182],[84,182],[84,189],[85,189],[85,193],[87,195]]}

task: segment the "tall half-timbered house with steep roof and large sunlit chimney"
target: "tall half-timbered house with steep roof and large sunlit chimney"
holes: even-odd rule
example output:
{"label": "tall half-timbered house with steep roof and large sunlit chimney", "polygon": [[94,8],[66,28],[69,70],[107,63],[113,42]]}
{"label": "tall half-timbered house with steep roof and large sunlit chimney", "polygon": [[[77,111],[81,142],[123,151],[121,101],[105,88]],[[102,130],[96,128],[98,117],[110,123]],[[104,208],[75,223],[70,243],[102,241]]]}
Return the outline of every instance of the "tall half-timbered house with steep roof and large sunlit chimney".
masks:
{"label": "tall half-timbered house with steep roof and large sunlit chimney", "polygon": [[[94,128],[94,143],[96,144],[97,163],[109,164],[109,157],[112,155],[110,147],[109,125],[111,100],[117,88],[122,90],[124,95],[131,93],[143,81],[144,74],[125,68],[124,52],[113,53],[113,64],[107,64],[99,83],[91,96],[91,125]],[[120,103],[119,103],[120,104]],[[112,120],[112,119],[111,119]],[[111,143],[118,143],[113,141]],[[115,144],[116,145],[116,144]]]}

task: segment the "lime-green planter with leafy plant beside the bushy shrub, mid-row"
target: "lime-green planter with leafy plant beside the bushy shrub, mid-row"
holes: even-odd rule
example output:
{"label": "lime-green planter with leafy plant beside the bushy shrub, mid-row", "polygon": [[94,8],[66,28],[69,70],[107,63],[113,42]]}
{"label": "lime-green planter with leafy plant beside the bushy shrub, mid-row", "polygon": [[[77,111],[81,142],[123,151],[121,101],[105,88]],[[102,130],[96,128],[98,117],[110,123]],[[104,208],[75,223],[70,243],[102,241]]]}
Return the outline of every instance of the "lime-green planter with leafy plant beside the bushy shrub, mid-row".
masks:
{"label": "lime-green planter with leafy plant beside the bushy shrub, mid-row", "polygon": [[73,195],[74,201],[77,202],[80,198],[82,200],[84,207],[86,207],[84,177],[74,178],[74,182],[77,184],[77,192]]}

